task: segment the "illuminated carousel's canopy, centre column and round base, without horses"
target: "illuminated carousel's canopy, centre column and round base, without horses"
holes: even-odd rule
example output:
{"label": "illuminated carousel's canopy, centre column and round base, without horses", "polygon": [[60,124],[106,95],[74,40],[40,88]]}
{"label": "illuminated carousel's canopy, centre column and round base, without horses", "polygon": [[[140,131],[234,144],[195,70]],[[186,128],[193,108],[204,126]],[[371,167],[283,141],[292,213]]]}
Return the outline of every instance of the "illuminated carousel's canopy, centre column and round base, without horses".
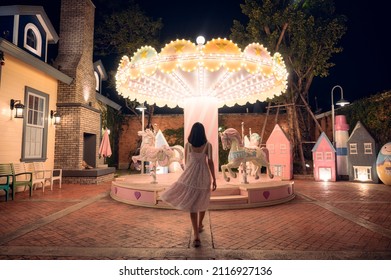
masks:
{"label": "illuminated carousel's canopy, centre column and round base, without horses", "polygon": [[[287,87],[287,71],[279,53],[273,56],[258,43],[244,51],[227,39],[197,44],[176,40],[160,53],[153,47],[140,48],[129,60],[124,56],[116,74],[117,91],[124,97],[159,107],[182,107],[184,135],[194,122],[205,126],[208,141],[218,147],[218,108],[265,101],[280,95]],[[227,182],[218,170],[218,149],[213,150],[217,190],[210,209],[249,208],[284,203],[294,198],[293,182],[261,176]],[[245,173],[245,172],[244,172]],[[113,181],[115,200],[156,208],[170,208],[159,193],[170,186],[178,173],[158,175],[150,182],[146,175],[129,175]],[[225,176],[224,176],[225,177]]]}

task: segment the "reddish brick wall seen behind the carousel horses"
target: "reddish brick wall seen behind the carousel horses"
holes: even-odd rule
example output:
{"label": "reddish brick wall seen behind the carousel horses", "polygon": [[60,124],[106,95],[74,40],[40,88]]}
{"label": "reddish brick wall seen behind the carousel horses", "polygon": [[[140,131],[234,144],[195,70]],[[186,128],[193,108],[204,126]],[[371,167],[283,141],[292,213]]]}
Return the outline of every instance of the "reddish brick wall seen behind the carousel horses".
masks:
{"label": "reddish brick wall seen behind the carousel horses", "polygon": [[[232,127],[242,132],[242,122],[244,122],[244,134],[249,134],[249,128],[252,133],[258,133],[261,135],[262,128],[266,119],[266,114],[219,114],[219,125],[226,128]],[[152,118],[152,124],[156,124],[157,128],[164,132],[165,129],[178,129],[183,127],[184,120],[183,115],[154,115]],[[280,114],[278,118],[278,124],[286,130],[286,115]],[[270,133],[275,126],[275,116],[269,115],[265,128],[264,140],[266,142]],[[141,121],[136,116],[128,116],[126,123],[123,125],[123,131],[119,138],[119,156],[118,167],[119,169],[127,169],[129,167],[130,159],[129,155],[137,149],[137,142],[140,137],[137,136],[137,132],[141,130]]]}

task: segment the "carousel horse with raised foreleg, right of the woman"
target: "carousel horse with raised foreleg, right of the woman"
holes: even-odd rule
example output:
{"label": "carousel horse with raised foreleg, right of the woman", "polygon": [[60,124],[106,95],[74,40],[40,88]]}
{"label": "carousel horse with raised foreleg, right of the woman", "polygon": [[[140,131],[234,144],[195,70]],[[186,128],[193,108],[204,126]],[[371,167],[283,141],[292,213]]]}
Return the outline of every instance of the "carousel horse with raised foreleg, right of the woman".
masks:
{"label": "carousel horse with raised foreleg, right of the woman", "polygon": [[[228,128],[224,132],[220,132],[220,138],[223,149],[230,149],[228,154],[228,163],[221,166],[221,171],[223,172],[224,179],[227,182],[230,178],[227,177],[225,171],[228,170],[229,174],[236,178],[236,173],[232,171],[232,168],[238,168],[241,165],[246,166],[246,162],[251,162],[256,167],[255,179],[259,179],[258,174],[260,173],[262,166],[267,168],[270,178],[274,177],[270,170],[268,151],[266,148],[244,147],[239,132],[234,128]],[[246,172],[243,172],[243,183],[248,183]]]}

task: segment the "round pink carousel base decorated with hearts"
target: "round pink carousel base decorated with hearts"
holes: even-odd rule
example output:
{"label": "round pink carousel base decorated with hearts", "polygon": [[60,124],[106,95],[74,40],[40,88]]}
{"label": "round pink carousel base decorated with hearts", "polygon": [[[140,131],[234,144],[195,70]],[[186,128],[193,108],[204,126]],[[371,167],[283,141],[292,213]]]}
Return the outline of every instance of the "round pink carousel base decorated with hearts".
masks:
{"label": "round pink carousel base decorated with hearts", "polygon": [[[173,209],[164,203],[159,194],[177,180],[180,173],[158,174],[157,183],[147,174],[127,175],[112,182],[110,196],[119,202],[136,206]],[[262,175],[258,180],[248,177],[248,184],[242,178],[231,178],[226,182],[221,174],[217,176],[217,190],[212,192],[209,209],[241,209],[270,206],[288,202],[295,197],[294,182],[269,179]]]}

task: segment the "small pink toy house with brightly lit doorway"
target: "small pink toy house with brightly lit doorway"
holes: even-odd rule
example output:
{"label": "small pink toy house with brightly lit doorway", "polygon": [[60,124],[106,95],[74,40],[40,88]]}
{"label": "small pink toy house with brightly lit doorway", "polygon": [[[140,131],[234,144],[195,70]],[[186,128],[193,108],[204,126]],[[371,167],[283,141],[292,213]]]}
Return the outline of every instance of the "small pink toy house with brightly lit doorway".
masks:
{"label": "small pink toy house with brightly lit doorway", "polygon": [[315,181],[336,181],[335,148],[322,132],[312,149]]}

